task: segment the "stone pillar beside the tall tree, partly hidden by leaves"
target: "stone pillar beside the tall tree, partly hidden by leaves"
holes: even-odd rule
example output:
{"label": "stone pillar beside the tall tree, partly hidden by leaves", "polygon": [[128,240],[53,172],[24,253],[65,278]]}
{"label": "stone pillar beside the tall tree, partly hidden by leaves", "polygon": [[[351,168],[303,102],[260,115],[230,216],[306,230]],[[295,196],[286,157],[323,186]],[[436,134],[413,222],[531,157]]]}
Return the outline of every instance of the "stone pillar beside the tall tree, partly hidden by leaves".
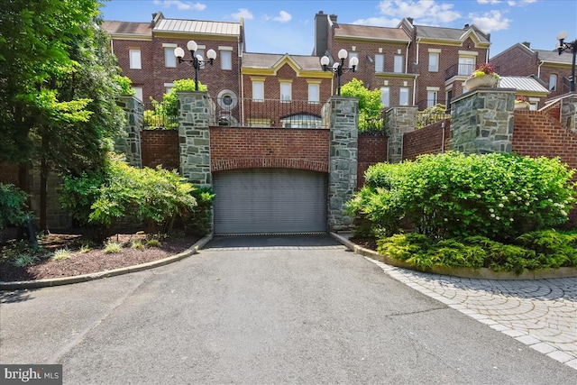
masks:
{"label": "stone pillar beside the tall tree, partly hidden by leaves", "polygon": [[126,125],[120,137],[114,139],[114,151],[122,152],[126,162],[142,168],[141,131],[144,126],[144,105],[134,96],[120,96],[116,100],[126,114]]}

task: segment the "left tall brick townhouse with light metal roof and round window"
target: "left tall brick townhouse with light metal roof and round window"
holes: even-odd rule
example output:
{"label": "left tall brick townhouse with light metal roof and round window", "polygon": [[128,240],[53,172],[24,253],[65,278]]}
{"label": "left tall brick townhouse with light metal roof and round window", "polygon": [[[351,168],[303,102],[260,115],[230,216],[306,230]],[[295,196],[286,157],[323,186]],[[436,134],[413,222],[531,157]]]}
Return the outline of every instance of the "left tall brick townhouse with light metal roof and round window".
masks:
{"label": "left tall brick townhouse with light metal roof and round window", "polygon": [[179,64],[174,49],[186,51],[187,42],[196,41],[199,54],[206,60],[206,51],[215,50],[216,60],[199,69],[199,81],[213,96],[234,100],[240,95],[241,60],[244,52],[243,20],[239,23],[167,19],[159,12],[149,23],[105,21],[105,31],[123,75],[133,81],[136,95],[143,103],[150,98],[161,100],[173,87],[174,80],[194,78],[194,69]]}

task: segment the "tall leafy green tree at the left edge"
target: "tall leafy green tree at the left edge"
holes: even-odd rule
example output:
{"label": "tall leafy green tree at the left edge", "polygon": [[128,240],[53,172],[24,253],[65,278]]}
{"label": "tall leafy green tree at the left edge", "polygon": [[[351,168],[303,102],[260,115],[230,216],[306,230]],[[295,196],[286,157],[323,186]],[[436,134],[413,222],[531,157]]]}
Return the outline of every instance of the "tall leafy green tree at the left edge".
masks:
{"label": "tall leafy green tree at the left edge", "polygon": [[5,0],[0,8],[0,160],[41,170],[46,228],[50,170],[78,173],[103,161],[122,126],[118,69],[96,0]]}

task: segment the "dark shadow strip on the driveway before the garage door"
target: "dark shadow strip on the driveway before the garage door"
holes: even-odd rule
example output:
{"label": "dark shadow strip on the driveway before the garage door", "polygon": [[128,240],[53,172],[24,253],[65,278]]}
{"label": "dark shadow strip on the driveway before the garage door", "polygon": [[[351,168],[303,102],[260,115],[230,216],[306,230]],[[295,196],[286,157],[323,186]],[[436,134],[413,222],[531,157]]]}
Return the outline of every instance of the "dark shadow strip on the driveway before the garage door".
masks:
{"label": "dark shadow strip on the driveway before the garage door", "polygon": [[303,249],[343,247],[329,234],[215,236],[204,249]]}

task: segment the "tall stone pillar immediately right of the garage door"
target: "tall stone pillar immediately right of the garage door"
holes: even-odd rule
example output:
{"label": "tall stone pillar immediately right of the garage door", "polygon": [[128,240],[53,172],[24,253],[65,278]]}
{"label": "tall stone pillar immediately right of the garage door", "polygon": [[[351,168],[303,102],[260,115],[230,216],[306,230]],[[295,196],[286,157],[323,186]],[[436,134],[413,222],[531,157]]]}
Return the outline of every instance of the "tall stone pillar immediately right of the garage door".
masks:
{"label": "tall stone pillar immediately right of the garage door", "polygon": [[348,230],[353,218],[344,213],[344,203],[354,193],[357,183],[359,101],[333,96],[330,101],[330,143],[328,181],[328,228]]}

